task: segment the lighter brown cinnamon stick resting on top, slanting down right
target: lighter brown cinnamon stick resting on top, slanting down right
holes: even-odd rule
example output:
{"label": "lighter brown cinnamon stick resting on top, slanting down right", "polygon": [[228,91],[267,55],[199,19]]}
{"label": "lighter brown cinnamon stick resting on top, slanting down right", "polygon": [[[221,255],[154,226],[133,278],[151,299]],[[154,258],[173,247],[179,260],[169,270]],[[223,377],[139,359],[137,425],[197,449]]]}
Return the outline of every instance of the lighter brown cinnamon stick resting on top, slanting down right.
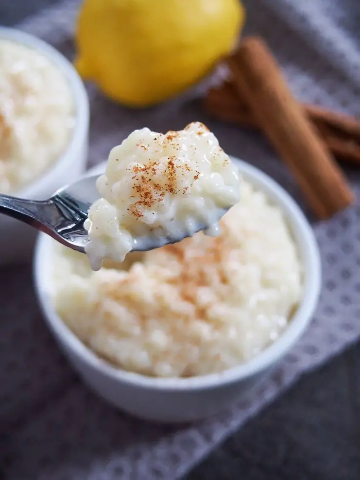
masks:
{"label": "lighter brown cinnamon stick resting on top, slanting down right", "polygon": [[267,46],[250,37],[227,62],[239,98],[248,99],[254,118],[315,213],[325,219],[350,205],[354,196],[345,177],[293,98]]}

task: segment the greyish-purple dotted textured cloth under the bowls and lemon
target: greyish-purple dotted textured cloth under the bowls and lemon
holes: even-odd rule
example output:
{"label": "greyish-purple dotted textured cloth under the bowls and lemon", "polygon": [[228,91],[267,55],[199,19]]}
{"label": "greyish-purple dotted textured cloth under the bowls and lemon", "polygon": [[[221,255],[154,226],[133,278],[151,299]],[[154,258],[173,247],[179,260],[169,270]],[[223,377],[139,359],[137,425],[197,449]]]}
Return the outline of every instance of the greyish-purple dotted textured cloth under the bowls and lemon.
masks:
{"label": "greyish-purple dotted textured cloth under the bowls and lemon", "polygon": [[[295,95],[360,114],[360,2],[358,0],[249,0],[247,34],[260,34],[284,68]],[[79,1],[67,1],[21,28],[73,57]],[[95,397],[67,365],[36,305],[31,268],[0,271],[0,465],[9,480],[173,480],[186,473],[302,373],[360,337],[360,170],[347,170],[356,205],[318,223],[302,204],[293,179],[267,141],[212,121],[197,95],[151,110],[131,111],[88,88],[90,165],[132,130],[182,128],[204,121],[225,150],[281,183],[313,221],[323,262],[323,289],[315,318],[272,376],[246,401],[215,418],[183,427],[138,421]],[[1,475],[0,475],[1,477]]]}

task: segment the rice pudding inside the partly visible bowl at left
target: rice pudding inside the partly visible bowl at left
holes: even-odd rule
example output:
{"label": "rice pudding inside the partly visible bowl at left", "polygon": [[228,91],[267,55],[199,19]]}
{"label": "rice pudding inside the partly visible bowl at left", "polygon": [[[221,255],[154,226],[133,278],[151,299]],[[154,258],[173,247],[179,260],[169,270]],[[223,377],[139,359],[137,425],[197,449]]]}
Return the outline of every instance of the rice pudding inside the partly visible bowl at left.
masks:
{"label": "rice pudding inside the partly visible bowl at left", "polygon": [[0,39],[0,192],[44,173],[65,151],[74,122],[63,73],[40,51]]}

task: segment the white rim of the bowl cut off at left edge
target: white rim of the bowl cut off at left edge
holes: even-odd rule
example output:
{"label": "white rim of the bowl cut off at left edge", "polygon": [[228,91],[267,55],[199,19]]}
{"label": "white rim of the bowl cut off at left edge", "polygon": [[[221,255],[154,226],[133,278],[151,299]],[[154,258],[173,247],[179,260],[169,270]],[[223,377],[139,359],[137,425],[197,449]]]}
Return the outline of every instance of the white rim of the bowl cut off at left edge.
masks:
{"label": "white rim of the bowl cut off at left edge", "polygon": [[18,197],[34,199],[40,191],[46,188],[46,185],[52,179],[58,176],[60,170],[63,170],[74,161],[78,151],[87,142],[90,123],[89,97],[80,75],[71,62],[60,51],[44,40],[17,28],[4,26],[0,26],[0,40],[19,43],[43,53],[65,76],[69,89],[72,92],[75,107],[75,125],[67,146],[40,176],[34,178],[32,182],[27,183],[19,190],[12,192],[12,194]]}

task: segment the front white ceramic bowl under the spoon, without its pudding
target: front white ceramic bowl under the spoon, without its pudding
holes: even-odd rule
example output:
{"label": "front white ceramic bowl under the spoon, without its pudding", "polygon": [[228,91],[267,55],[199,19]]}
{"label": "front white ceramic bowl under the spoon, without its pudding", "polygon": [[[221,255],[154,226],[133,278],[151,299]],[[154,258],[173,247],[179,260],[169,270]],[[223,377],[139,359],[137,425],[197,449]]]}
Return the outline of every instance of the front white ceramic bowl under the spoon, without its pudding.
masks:
{"label": "front white ceramic bowl under the spoon, without its pudding", "polygon": [[[221,374],[193,378],[150,378],[114,368],[98,358],[67,328],[51,302],[49,265],[53,240],[40,234],[34,259],[34,281],[50,330],[70,364],[84,381],[112,405],[136,416],[162,422],[183,422],[222,410],[240,399],[285,355],[310,322],[317,303],[321,266],[313,231],[299,207],[277,183],[260,170],[238,161],[240,172],[264,190],[285,212],[304,266],[303,300],[286,331],[261,354],[246,364]],[[100,167],[94,173],[101,173]]]}

